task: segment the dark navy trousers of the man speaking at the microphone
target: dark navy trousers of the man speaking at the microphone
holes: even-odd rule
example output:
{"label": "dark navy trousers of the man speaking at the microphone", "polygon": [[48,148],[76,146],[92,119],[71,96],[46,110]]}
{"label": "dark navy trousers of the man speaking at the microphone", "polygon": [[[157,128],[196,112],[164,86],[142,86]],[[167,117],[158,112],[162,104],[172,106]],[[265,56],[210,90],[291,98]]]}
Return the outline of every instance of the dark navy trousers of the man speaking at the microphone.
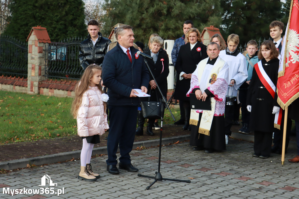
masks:
{"label": "dark navy trousers of the man speaking at the microphone", "polygon": [[129,153],[132,151],[136,120],[137,106],[109,106],[110,123],[107,139],[108,159],[107,165],[116,165],[116,152],[119,146],[122,164],[131,164]]}

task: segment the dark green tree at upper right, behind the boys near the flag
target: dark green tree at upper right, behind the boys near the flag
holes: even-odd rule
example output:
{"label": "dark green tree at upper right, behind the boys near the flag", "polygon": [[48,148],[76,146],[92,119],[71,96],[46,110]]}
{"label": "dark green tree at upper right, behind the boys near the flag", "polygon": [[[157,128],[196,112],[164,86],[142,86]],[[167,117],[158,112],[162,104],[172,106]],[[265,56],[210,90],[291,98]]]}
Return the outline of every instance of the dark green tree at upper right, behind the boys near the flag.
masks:
{"label": "dark green tree at upper right, behind the boys near the flag", "polygon": [[251,39],[269,39],[270,23],[283,17],[280,0],[221,0],[221,7],[223,38],[238,34],[242,47]]}

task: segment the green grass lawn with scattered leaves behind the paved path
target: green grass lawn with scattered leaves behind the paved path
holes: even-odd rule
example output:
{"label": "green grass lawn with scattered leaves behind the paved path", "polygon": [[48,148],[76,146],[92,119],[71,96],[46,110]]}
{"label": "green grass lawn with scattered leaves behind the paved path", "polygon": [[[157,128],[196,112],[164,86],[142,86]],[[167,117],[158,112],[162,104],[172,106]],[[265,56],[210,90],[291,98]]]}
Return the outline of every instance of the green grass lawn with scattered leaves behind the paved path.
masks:
{"label": "green grass lawn with scattered leaves behind the paved path", "polygon": [[[0,91],[0,144],[77,135],[73,98]],[[172,109],[179,119],[179,108]],[[165,109],[164,124],[173,123]]]}

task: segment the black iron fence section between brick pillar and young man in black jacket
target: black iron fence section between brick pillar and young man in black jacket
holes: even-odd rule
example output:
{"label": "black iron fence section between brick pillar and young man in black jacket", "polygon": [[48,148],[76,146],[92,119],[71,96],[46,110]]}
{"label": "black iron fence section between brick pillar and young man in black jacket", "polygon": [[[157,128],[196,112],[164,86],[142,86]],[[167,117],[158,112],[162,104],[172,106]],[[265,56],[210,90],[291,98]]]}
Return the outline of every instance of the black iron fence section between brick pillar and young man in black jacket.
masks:
{"label": "black iron fence section between brick pillar and young man in black jacket", "polygon": [[46,45],[45,77],[48,79],[80,79],[83,68],[79,61],[81,38],[69,38]]}

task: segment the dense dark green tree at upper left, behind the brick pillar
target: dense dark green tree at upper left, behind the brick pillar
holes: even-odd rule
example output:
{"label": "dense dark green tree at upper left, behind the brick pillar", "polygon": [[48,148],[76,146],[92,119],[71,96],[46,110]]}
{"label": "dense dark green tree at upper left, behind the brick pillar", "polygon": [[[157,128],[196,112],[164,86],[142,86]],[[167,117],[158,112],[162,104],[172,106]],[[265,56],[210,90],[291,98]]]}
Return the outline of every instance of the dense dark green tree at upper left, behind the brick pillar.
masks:
{"label": "dense dark green tree at upper left, behind the brick pillar", "polygon": [[47,28],[51,41],[87,35],[82,0],[13,0],[11,19],[4,32],[21,41],[27,39],[31,27]]}

